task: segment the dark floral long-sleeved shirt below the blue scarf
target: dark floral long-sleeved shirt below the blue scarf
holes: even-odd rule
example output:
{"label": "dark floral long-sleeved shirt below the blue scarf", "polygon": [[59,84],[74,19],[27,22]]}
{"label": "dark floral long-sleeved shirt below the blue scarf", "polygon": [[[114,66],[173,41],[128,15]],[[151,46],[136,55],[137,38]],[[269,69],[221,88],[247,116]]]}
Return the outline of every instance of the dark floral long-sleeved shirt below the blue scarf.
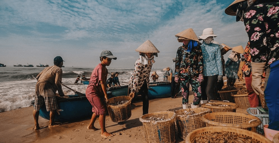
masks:
{"label": "dark floral long-sleeved shirt below the blue scarf", "polygon": [[176,53],[175,76],[185,77],[191,75],[194,78],[203,73],[203,58],[201,47],[193,47],[191,52],[187,51],[185,45],[179,47]]}

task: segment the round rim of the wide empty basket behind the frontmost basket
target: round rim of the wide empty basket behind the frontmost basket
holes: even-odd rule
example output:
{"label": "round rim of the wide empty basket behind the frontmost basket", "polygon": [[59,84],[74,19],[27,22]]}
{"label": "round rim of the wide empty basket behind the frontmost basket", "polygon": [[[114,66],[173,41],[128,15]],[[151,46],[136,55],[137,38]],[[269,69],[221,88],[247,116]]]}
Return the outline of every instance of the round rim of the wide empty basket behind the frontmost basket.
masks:
{"label": "round rim of the wide empty basket behind the frontmost basket", "polygon": [[[250,118],[251,120],[256,119],[255,122],[251,123],[222,123],[222,122],[217,122],[217,121],[212,121],[208,120],[207,117],[210,116],[215,116],[215,115],[224,115],[224,116],[242,116],[242,117],[247,117]],[[227,127],[234,127],[234,128],[250,128],[250,127],[257,127],[258,125],[261,124],[261,120],[258,117],[249,115],[249,114],[244,114],[244,113],[235,113],[235,112],[222,112],[221,114],[219,112],[213,112],[213,113],[208,113],[206,115],[201,116],[201,120],[209,125],[214,125],[214,126],[227,126]],[[238,119],[240,120],[240,119]]]}

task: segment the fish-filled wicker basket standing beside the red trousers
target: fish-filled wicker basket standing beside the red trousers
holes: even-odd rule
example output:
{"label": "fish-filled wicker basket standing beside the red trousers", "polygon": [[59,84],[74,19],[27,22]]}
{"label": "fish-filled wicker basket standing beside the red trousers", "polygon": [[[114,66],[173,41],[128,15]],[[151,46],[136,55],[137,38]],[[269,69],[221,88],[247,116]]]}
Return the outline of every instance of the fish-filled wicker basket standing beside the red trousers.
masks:
{"label": "fish-filled wicker basket standing beside the red trousers", "polygon": [[248,100],[247,88],[242,88],[236,92],[233,92],[231,96],[234,98],[236,104],[240,109],[248,109],[251,107]]}

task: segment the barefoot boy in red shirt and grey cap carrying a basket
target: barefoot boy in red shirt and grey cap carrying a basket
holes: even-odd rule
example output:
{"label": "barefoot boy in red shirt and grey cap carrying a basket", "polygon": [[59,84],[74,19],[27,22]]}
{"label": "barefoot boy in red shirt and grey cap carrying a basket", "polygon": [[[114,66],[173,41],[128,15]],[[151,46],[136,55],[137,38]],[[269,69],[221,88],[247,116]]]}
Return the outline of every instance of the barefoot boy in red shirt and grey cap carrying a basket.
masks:
{"label": "barefoot boy in red shirt and grey cap carrying a basket", "polygon": [[108,75],[108,69],[106,68],[106,66],[109,66],[111,64],[111,59],[116,60],[116,57],[112,55],[111,51],[103,50],[100,53],[101,63],[99,63],[94,68],[89,80],[89,85],[87,86],[85,92],[86,98],[93,106],[93,114],[87,128],[94,131],[98,130],[94,127],[94,123],[97,119],[97,116],[100,115],[99,123],[101,127],[101,136],[105,138],[114,136],[113,134],[106,131],[106,106],[104,104],[105,101],[108,101],[108,94],[106,91],[106,78]]}

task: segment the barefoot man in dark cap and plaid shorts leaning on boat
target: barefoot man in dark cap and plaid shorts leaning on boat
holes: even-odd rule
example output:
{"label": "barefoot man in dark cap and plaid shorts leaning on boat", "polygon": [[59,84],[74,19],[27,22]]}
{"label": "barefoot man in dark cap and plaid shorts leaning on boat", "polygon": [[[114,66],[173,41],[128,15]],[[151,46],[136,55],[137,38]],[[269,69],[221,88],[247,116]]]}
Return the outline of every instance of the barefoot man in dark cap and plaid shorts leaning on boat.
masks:
{"label": "barefoot man in dark cap and plaid shorts leaning on boat", "polygon": [[[55,98],[56,91],[60,96],[65,96],[62,87],[62,69],[63,59],[60,56],[57,56],[53,60],[54,65],[46,67],[42,72],[40,72],[36,79],[38,80],[35,89],[35,104],[33,110],[33,117],[35,120],[35,130],[40,129],[38,118],[39,110],[45,102],[45,106],[49,113],[49,127],[55,125],[54,116],[55,112],[58,109],[58,104]],[[67,96],[66,96],[67,97]]]}

